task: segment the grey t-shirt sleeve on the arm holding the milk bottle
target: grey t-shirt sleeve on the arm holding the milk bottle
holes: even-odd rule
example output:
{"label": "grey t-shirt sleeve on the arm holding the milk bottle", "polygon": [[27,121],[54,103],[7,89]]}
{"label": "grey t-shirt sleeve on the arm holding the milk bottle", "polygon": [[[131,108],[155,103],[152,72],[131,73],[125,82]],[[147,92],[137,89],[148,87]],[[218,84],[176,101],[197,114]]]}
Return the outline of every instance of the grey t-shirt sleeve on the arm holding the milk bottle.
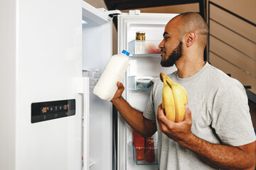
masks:
{"label": "grey t-shirt sleeve on the arm holding the milk bottle", "polygon": [[153,87],[153,89],[150,92],[149,100],[146,104],[145,111],[143,112],[144,118],[147,118],[149,120],[156,120],[156,115],[154,112],[154,99],[153,99],[154,98],[154,88],[155,88],[155,86]]}

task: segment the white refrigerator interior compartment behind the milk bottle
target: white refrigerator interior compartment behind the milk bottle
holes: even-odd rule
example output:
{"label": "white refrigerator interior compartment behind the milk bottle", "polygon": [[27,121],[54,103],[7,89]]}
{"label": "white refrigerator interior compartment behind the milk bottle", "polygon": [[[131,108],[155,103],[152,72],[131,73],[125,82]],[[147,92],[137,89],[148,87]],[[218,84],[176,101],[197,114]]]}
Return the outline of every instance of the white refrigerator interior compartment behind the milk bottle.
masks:
{"label": "white refrigerator interior compartment behind the milk bottle", "polygon": [[[81,72],[83,76],[90,76],[90,86],[97,81],[95,70],[97,74],[99,70],[102,72],[111,55],[112,18],[104,11],[82,2]],[[90,87],[89,130],[90,137],[84,140],[89,142],[90,149],[87,152],[89,152],[90,170],[112,169],[112,103],[93,95],[92,87]]]}

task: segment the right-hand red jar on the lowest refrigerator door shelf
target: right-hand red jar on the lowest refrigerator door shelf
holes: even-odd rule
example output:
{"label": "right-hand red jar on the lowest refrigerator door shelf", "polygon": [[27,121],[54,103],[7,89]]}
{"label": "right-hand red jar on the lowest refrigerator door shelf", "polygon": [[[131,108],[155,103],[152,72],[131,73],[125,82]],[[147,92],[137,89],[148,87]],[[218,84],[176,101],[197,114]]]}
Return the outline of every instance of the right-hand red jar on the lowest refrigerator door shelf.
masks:
{"label": "right-hand red jar on the lowest refrigerator door shelf", "polygon": [[146,137],[145,160],[148,163],[155,162],[154,137]]}

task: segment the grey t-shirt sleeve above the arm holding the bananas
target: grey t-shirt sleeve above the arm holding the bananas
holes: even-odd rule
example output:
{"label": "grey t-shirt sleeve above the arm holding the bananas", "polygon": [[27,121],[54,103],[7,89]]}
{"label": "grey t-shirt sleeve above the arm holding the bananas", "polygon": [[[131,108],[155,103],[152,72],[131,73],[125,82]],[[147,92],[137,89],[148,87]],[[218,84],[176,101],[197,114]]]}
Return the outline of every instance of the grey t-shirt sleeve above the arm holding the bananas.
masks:
{"label": "grey t-shirt sleeve above the arm holding the bananas", "polygon": [[240,146],[255,141],[248,99],[239,81],[217,91],[213,102],[212,127],[225,145]]}

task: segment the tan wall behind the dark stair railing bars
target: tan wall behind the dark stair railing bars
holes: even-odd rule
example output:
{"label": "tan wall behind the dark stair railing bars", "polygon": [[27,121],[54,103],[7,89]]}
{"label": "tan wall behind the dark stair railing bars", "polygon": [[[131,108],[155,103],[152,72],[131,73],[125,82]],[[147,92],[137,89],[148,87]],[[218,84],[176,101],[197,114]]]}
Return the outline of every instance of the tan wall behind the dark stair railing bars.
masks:
{"label": "tan wall behind the dark stair railing bars", "polygon": [[[235,1],[235,3],[231,0],[213,0],[213,2],[256,23],[255,0]],[[209,22],[210,63],[223,72],[231,74],[231,77],[238,79],[243,85],[252,86],[250,91],[256,94],[256,28],[213,5],[210,5],[210,18],[218,22],[213,20]],[[220,26],[219,23],[240,35]]]}

